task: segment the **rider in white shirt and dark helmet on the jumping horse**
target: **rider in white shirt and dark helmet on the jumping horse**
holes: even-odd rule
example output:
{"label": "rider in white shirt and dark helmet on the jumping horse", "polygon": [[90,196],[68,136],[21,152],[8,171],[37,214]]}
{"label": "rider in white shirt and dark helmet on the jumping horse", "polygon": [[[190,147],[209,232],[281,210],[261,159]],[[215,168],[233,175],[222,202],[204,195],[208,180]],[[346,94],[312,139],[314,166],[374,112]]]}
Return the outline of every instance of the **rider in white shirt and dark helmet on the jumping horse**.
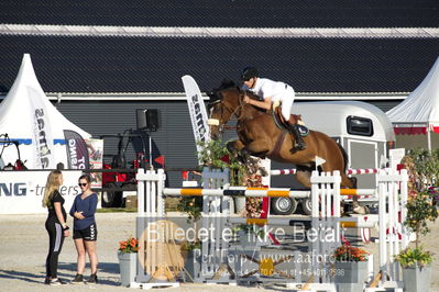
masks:
{"label": "rider in white shirt and dark helmet on the jumping horse", "polygon": [[290,116],[295,98],[294,89],[284,82],[260,78],[259,71],[255,67],[245,67],[241,72],[241,81],[243,82],[243,89],[251,91],[262,99],[262,101],[257,101],[245,96],[245,103],[250,103],[261,109],[271,110],[272,103],[281,102],[282,116],[284,116],[289,126],[289,131],[294,135],[295,144],[292,151],[305,149],[306,144],[299,134],[297,124],[295,124],[294,119]]}

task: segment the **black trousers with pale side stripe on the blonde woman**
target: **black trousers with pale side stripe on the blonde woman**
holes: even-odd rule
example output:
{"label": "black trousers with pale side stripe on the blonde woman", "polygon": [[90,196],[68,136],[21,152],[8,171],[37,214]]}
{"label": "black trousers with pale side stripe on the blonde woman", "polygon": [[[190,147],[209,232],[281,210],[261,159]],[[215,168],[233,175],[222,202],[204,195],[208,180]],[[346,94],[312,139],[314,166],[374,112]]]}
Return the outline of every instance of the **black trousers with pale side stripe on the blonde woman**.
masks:
{"label": "black trousers with pale side stripe on the blonde woman", "polygon": [[57,277],[58,256],[64,243],[64,232],[56,220],[48,217],[46,220],[46,231],[48,233],[48,255],[46,258],[46,277],[52,279]]}

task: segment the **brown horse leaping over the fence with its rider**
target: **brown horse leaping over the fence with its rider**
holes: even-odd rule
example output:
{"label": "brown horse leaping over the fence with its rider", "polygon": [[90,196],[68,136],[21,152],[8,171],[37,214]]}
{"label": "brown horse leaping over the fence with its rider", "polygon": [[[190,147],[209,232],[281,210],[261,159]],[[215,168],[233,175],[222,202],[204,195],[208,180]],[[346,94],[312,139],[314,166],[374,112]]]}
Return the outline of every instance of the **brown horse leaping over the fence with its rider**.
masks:
{"label": "brown horse leaping over the fence with its rider", "polygon": [[208,108],[211,137],[218,139],[227,127],[227,123],[235,116],[239,139],[229,142],[227,148],[241,157],[244,162],[252,155],[296,165],[297,181],[310,188],[310,176],[316,169],[316,157],[320,157],[325,159],[325,162],[319,166],[320,171],[339,170],[341,187],[354,188],[354,180],[345,175],[348,155],[343,147],[328,135],[310,130],[304,137],[307,148],[292,153],[294,136],[276,126],[271,114],[243,100],[245,94],[257,100],[256,96],[241,90],[232,81],[223,82],[220,88],[207,93],[210,97]]}

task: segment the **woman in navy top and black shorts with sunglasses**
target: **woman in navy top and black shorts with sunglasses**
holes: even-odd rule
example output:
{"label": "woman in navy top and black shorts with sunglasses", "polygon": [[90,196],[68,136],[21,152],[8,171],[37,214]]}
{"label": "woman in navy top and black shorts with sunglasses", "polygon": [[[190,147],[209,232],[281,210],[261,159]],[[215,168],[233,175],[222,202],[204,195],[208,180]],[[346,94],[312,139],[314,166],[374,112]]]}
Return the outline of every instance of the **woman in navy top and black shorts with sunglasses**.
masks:
{"label": "woman in navy top and black shorts with sunglasses", "polygon": [[79,188],[81,193],[76,195],[70,209],[74,217],[74,235],[76,251],[78,252],[77,273],[70,283],[84,282],[84,270],[86,267],[86,251],[90,259],[91,276],[87,280],[89,284],[98,282],[98,256],[96,252],[96,240],[98,229],[96,227],[95,212],[98,205],[98,195],[91,191],[91,179],[88,175],[79,177]]}

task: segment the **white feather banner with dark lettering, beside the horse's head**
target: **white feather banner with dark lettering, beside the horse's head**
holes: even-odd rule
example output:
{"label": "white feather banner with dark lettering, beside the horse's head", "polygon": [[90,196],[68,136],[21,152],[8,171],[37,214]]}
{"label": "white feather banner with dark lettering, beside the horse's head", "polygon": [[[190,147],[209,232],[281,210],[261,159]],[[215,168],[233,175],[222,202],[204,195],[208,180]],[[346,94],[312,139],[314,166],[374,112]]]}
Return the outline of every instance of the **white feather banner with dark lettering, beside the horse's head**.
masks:
{"label": "white feather banner with dark lettering, beside the horse's head", "polygon": [[[207,112],[201,92],[197,82],[191,76],[182,77],[183,86],[186,92],[187,106],[189,108],[190,121],[194,130],[195,142],[209,142],[210,131],[207,125]],[[201,153],[201,146],[197,145],[197,151]]]}

